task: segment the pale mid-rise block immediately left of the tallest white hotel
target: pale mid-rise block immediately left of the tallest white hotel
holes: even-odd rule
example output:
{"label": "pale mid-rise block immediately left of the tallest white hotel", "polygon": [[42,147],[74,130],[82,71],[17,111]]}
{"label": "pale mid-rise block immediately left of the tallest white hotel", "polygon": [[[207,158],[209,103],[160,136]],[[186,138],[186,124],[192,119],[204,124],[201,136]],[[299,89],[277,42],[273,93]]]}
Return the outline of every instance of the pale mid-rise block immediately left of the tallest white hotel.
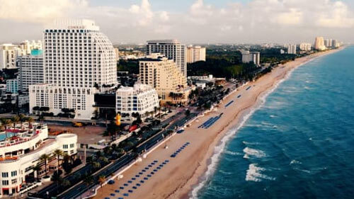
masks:
{"label": "pale mid-rise block immediately left of the tallest white hotel", "polygon": [[21,91],[28,92],[28,86],[44,82],[42,55],[23,55],[17,58],[17,63]]}

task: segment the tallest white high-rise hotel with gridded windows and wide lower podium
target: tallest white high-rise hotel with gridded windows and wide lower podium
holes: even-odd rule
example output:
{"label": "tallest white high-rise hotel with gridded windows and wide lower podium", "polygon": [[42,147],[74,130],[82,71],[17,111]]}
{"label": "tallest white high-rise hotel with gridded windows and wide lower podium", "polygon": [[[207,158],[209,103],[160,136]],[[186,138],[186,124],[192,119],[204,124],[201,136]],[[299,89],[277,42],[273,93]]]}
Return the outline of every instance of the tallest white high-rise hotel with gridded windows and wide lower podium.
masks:
{"label": "tallest white high-rise hotel with gridded windows and wide lower podium", "polygon": [[57,21],[43,40],[45,84],[30,86],[30,113],[45,104],[55,114],[69,108],[75,118],[91,119],[94,94],[117,82],[112,43],[89,20]]}

